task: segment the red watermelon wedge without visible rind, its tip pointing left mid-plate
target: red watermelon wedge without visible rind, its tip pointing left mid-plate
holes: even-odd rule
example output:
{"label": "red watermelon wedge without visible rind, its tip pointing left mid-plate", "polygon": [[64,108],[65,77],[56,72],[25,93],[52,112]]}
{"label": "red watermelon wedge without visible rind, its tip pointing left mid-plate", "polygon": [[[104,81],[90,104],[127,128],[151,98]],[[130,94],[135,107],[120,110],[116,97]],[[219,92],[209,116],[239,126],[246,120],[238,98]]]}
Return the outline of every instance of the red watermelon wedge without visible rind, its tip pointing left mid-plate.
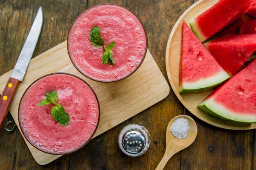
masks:
{"label": "red watermelon wedge without visible rind, its tip pointing left mid-plate", "polygon": [[256,50],[256,34],[224,35],[204,46],[231,77]]}

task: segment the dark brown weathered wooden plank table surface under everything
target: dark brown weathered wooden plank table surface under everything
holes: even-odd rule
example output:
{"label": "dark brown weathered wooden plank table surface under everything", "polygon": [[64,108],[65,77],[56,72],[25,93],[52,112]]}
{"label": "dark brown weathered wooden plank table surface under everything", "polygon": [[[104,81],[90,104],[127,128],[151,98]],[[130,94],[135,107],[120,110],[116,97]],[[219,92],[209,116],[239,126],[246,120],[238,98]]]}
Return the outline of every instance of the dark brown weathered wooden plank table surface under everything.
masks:
{"label": "dark brown weathered wooden plank table surface under everything", "polygon": [[[100,3],[116,3],[135,12],[148,33],[148,49],[166,80],[165,50],[176,20],[195,0],[0,0],[0,75],[14,68],[35,14],[42,6],[44,24],[33,57],[67,39],[71,23],[85,9]],[[0,169],[154,170],[162,158],[166,127],[176,115],[192,116],[198,125],[195,142],[175,154],[165,169],[253,170],[255,130],[233,131],[213,127],[192,115],[171,90],[167,98],[133,118],[94,138],[81,150],[41,166],[36,163],[19,130],[0,130]],[[8,114],[5,123],[12,120]],[[117,144],[119,131],[129,123],[143,124],[151,134],[151,146],[140,157],[123,154]]]}

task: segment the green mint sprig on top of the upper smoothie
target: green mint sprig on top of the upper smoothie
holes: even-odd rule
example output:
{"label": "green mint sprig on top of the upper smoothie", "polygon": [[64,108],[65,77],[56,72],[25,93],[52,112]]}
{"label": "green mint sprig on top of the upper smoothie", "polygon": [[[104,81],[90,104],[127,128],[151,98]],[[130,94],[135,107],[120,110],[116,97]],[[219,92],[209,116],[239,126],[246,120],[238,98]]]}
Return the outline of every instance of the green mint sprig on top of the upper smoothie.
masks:
{"label": "green mint sprig on top of the upper smoothie", "polygon": [[93,44],[93,46],[100,47],[104,46],[104,53],[102,55],[102,63],[109,63],[110,65],[114,65],[115,62],[112,58],[112,51],[113,47],[115,46],[115,41],[112,41],[108,46],[105,45],[105,41],[100,37],[100,29],[99,26],[93,27],[93,29],[90,31],[89,34],[90,42]]}

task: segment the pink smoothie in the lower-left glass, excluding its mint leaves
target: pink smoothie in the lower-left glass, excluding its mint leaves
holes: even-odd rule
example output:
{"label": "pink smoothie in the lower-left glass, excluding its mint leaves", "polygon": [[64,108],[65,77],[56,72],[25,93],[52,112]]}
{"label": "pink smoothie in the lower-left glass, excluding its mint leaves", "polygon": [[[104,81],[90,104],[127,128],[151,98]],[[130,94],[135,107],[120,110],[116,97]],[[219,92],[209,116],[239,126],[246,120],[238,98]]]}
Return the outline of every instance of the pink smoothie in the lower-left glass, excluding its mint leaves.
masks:
{"label": "pink smoothie in the lower-left glass, excluding its mint leaves", "polygon": [[[47,92],[56,90],[58,103],[70,115],[62,126],[51,115],[53,104],[37,106]],[[70,153],[85,144],[96,130],[99,106],[84,81],[72,75],[48,75],[36,81],[20,101],[19,121],[23,134],[38,149],[53,154]]]}

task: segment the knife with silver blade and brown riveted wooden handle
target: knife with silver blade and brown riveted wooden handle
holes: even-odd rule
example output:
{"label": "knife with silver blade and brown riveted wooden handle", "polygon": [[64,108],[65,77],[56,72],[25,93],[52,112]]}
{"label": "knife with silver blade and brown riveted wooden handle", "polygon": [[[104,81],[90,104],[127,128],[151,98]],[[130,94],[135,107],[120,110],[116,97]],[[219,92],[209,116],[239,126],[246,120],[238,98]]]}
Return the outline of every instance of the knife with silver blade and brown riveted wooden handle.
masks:
{"label": "knife with silver blade and brown riveted wooden handle", "polygon": [[17,87],[20,81],[23,80],[26,69],[29,66],[29,61],[32,58],[33,52],[35,50],[42,25],[43,12],[42,8],[40,7],[38,9],[38,13],[35,16],[34,23],[29,31],[29,35],[26,38],[24,46],[20,52],[17,63],[15,64],[15,67],[12,71],[12,75],[3,90],[3,94],[0,97],[0,128],[2,127],[3,121],[6,118]]}

